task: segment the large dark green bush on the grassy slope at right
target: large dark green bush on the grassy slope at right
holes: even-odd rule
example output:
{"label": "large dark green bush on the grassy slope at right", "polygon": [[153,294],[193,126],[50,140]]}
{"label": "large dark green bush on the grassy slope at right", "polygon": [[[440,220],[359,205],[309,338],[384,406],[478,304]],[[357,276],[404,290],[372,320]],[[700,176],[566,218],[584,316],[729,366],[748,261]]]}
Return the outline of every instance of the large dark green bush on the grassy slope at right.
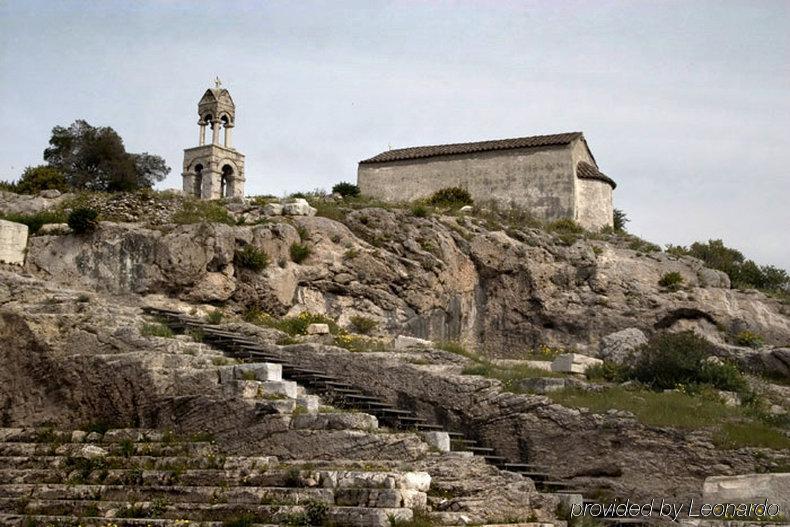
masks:
{"label": "large dark green bush on the grassy slope at right", "polygon": [[711,355],[710,343],[692,331],[659,333],[641,349],[628,376],[655,390],[700,385],[745,390],[741,372],[731,364],[705,360]]}

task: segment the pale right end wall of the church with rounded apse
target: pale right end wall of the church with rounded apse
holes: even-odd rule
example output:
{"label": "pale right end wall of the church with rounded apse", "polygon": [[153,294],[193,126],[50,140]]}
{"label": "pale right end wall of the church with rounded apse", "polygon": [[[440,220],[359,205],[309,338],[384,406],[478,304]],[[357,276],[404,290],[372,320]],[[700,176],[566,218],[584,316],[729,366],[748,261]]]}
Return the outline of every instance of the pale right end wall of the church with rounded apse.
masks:
{"label": "pale right end wall of the church with rounded apse", "polygon": [[[580,161],[598,166],[586,143],[579,139],[571,144],[571,158],[574,170]],[[605,181],[576,178],[574,202],[574,219],[585,229],[597,231],[613,225],[612,187]]]}

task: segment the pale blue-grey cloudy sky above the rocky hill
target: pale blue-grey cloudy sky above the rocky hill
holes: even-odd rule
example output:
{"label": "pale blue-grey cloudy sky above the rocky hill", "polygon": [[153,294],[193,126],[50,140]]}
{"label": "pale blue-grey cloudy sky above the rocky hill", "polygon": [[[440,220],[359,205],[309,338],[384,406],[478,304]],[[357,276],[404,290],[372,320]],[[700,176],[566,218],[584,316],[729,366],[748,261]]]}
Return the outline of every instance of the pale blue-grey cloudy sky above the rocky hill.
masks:
{"label": "pale blue-grey cloudy sky above the rocky hill", "polygon": [[0,0],[0,179],[111,126],[180,188],[197,102],[236,103],[248,194],[388,148],[583,131],[628,229],[790,269],[790,2]]}

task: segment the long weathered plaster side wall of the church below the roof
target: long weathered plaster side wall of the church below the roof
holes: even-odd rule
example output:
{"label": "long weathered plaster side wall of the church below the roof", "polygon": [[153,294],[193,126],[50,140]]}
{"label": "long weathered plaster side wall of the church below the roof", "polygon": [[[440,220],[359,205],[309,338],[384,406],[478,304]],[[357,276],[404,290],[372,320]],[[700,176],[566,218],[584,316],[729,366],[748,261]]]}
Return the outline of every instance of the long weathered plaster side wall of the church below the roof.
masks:
{"label": "long weathered plaster side wall of the church below the roof", "polygon": [[574,172],[568,146],[478,152],[361,164],[362,194],[411,201],[446,187],[463,187],[475,201],[528,208],[539,219],[574,217]]}

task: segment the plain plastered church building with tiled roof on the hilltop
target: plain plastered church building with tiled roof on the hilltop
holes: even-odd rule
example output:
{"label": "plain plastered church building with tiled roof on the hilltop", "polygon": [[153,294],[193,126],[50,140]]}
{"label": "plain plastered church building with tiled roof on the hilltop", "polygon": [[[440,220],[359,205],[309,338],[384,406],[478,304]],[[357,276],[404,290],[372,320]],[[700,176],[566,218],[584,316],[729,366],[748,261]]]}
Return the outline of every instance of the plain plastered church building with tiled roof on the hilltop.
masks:
{"label": "plain plastered church building with tiled roof on the hilltop", "polygon": [[360,161],[357,184],[362,195],[390,202],[461,187],[476,203],[517,206],[543,221],[570,218],[589,230],[612,226],[617,186],[581,132],[389,150]]}

